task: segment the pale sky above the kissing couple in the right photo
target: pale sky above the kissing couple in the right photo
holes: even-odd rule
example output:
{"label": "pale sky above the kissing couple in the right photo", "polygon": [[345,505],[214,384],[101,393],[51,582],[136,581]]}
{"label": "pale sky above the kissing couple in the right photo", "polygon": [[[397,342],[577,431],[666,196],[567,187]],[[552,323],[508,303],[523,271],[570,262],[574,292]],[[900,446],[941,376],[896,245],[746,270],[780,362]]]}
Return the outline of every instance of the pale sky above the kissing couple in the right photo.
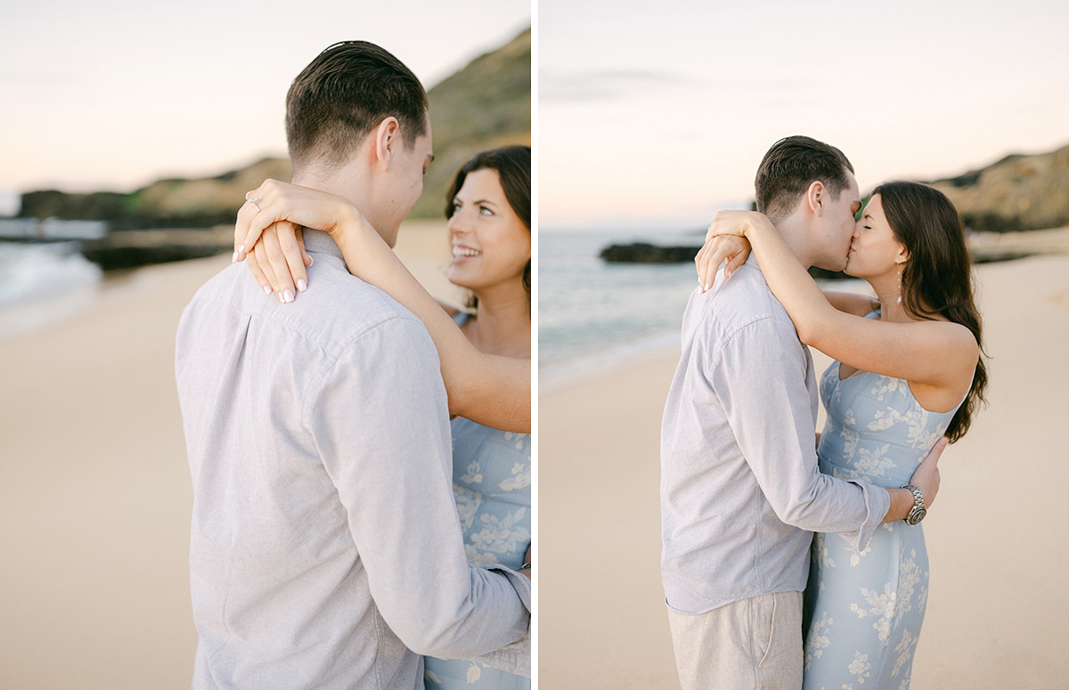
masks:
{"label": "pale sky above the kissing couple in the right photo", "polygon": [[541,0],[539,219],[679,228],[753,198],[769,146],[862,190],[1069,144],[1064,0]]}

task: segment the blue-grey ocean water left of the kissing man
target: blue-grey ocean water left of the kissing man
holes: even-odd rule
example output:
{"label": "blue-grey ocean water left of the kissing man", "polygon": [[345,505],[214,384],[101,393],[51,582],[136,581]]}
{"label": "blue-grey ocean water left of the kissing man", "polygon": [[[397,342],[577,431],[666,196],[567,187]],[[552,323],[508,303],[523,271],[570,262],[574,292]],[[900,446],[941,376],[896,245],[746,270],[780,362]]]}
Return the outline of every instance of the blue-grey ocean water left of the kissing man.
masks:
{"label": "blue-grey ocean water left of the kissing man", "polygon": [[704,229],[539,233],[539,381],[554,385],[679,342],[694,264],[609,264],[613,244],[700,246]]}

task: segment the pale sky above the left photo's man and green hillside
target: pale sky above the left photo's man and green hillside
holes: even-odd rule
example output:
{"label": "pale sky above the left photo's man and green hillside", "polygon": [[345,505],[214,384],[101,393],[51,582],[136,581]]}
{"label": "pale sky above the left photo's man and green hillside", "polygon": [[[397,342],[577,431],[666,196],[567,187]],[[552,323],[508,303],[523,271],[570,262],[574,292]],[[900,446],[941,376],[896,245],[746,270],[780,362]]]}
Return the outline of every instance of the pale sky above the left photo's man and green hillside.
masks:
{"label": "pale sky above the left photo's man and green hillside", "polygon": [[285,92],[328,45],[377,43],[430,88],[530,21],[529,0],[4,0],[0,195],[285,155]]}

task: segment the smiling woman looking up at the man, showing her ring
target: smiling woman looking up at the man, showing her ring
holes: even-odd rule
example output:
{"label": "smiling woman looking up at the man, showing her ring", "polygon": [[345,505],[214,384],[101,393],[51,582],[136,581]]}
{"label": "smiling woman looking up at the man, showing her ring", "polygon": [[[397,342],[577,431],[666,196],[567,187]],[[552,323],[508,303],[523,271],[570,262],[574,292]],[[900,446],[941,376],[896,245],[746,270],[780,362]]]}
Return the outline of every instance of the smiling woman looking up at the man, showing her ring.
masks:
{"label": "smiling woman looking up at the man, showing her ring", "polygon": [[[474,314],[437,304],[347,201],[281,183],[250,197],[260,197],[265,218],[311,225],[314,215],[315,226],[331,234],[354,276],[428,327],[454,415],[453,491],[468,560],[529,574],[530,147],[479,154],[461,168],[449,191],[449,280],[471,291]],[[244,235],[235,245],[252,241],[263,242],[249,254],[249,267],[265,292],[307,286],[300,281],[307,281],[304,266],[311,262],[293,225],[268,226],[262,239]],[[530,688],[529,678],[477,661],[431,657],[424,681],[435,690]]]}

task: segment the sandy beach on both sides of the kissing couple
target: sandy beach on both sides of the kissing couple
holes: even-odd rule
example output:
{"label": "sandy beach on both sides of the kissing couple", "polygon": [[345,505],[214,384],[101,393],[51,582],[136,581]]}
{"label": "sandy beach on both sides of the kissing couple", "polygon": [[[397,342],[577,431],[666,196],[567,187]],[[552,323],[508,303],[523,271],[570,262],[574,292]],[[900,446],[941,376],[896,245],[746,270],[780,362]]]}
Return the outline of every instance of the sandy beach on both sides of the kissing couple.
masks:
{"label": "sandy beach on both sides of the kissing couple", "polygon": [[[990,404],[940,464],[912,687],[1064,688],[1069,256],[987,264],[977,275]],[[542,688],[679,687],[657,495],[678,358],[678,347],[650,352],[539,399]],[[830,360],[817,352],[815,362],[823,371]]]}

